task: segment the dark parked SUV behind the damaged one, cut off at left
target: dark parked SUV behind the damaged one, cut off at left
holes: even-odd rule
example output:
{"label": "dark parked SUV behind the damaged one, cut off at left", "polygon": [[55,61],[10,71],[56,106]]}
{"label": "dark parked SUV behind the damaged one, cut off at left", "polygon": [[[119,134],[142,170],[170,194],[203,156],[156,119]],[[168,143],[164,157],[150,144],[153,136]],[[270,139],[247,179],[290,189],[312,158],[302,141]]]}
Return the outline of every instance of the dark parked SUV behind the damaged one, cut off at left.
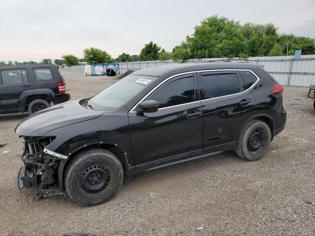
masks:
{"label": "dark parked SUV behind the damaged one, cut off at left", "polygon": [[33,114],[69,99],[63,77],[52,64],[0,67],[0,114]]}

